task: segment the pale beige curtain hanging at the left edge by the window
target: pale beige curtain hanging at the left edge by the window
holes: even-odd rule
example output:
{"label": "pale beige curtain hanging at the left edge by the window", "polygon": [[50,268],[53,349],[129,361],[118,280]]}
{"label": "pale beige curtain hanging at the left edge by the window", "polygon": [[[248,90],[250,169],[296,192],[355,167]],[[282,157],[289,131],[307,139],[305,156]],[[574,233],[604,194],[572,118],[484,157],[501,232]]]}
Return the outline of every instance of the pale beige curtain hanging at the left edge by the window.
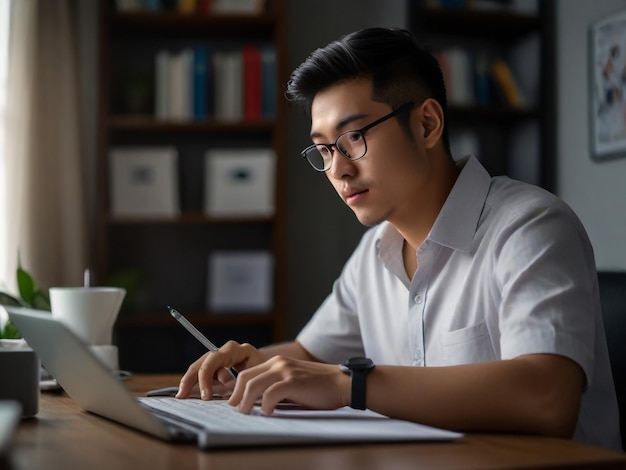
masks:
{"label": "pale beige curtain hanging at the left edge by the window", "polygon": [[[86,214],[77,43],[71,0],[14,0],[5,158],[6,272],[17,255],[42,288],[80,285]],[[2,151],[2,149],[0,149]]]}

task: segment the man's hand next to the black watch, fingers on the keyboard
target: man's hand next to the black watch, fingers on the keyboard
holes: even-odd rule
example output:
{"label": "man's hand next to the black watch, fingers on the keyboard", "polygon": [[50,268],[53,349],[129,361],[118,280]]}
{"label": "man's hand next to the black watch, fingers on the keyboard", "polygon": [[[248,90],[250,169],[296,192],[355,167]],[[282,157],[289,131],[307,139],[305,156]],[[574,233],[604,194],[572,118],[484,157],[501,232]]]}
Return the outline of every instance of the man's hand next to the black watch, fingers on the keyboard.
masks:
{"label": "man's hand next to the black watch, fingers on the keyboard", "polygon": [[250,413],[259,397],[266,414],[281,401],[331,410],[350,405],[351,379],[336,364],[275,356],[241,372],[228,403]]}

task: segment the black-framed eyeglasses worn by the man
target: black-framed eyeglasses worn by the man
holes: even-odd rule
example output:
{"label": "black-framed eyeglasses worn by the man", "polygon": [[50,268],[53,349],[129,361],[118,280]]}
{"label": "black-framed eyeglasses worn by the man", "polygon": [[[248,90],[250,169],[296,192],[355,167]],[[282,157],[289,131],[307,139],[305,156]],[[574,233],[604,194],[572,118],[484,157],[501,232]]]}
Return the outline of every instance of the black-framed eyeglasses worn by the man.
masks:
{"label": "black-framed eyeglasses worn by the man", "polygon": [[307,159],[311,166],[317,171],[327,171],[333,161],[333,147],[339,150],[339,153],[351,161],[360,160],[367,153],[367,142],[365,141],[365,133],[372,127],[377,126],[391,119],[415,105],[413,101],[403,104],[395,111],[377,119],[361,129],[348,131],[337,137],[334,144],[313,144],[305,148],[300,155]]}

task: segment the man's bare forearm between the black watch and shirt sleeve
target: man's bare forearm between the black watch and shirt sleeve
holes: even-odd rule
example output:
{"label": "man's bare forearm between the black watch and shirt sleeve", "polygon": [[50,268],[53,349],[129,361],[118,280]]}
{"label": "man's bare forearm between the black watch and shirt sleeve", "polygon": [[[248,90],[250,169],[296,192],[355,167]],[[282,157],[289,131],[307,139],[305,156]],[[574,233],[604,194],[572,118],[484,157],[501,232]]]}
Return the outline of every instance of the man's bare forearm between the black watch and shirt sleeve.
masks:
{"label": "man's bare forearm between the black watch and shirt sleeve", "polygon": [[367,404],[448,429],[571,437],[583,384],[578,364],[553,354],[413,371],[376,367],[367,379]]}

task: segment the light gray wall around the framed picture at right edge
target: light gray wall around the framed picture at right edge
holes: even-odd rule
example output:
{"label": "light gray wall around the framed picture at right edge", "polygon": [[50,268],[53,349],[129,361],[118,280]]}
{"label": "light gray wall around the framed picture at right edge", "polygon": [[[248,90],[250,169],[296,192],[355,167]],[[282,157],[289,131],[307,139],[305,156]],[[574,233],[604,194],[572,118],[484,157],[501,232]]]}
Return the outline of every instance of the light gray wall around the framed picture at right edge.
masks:
{"label": "light gray wall around the framed picture at right edge", "polygon": [[557,192],[585,225],[598,269],[626,270],[626,158],[590,158],[587,39],[591,23],[625,9],[624,0],[557,4]]}

